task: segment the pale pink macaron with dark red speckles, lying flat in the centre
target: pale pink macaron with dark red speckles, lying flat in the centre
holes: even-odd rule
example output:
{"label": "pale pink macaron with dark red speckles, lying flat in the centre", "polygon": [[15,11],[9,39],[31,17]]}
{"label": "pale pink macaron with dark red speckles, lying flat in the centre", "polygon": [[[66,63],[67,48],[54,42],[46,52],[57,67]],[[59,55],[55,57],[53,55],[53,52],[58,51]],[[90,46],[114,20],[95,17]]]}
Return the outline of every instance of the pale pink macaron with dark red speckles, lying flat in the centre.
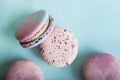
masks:
{"label": "pale pink macaron with dark red speckles, lying flat in the centre", "polygon": [[47,39],[41,43],[43,59],[55,67],[70,65],[77,56],[78,42],[76,37],[66,29],[54,28]]}

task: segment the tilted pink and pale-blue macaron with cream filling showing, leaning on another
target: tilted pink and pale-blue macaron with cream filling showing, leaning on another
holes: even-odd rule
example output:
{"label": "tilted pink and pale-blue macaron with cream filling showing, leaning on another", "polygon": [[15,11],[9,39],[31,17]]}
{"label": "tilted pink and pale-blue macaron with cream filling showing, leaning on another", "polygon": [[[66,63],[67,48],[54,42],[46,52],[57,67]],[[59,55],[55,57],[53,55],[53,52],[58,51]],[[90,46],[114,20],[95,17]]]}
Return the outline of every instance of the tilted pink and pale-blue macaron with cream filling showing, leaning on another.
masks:
{"label": "tilted pink and pale-blue macaron with cream filling showing, leaning on another", "polygon": [[53,18],[45,11],[30,14],[16,32],[16,38],[24,48],[33,48],[42,43],[54,28]]}

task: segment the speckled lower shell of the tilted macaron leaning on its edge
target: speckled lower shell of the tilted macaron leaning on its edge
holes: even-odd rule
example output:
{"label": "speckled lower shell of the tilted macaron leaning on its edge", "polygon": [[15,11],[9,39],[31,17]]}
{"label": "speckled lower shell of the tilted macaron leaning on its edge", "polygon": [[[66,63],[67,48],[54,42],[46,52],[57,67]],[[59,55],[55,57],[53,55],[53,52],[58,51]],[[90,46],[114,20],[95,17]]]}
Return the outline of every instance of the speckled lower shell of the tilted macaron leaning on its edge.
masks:
{"label": "speckled lower shell of the tilted macaron leaning on its edge", "polygon": [[41,44],[53,31],[54,29],[54,19],[52,17],[50,17],[50,21],[49,21],[49,25],[48,25],[48,29],[41,35],[39,36],[36,40],[27,43],[27,44],[21,44],[24,48],[32,48],[35,46],[38,46],[39,44]]}

